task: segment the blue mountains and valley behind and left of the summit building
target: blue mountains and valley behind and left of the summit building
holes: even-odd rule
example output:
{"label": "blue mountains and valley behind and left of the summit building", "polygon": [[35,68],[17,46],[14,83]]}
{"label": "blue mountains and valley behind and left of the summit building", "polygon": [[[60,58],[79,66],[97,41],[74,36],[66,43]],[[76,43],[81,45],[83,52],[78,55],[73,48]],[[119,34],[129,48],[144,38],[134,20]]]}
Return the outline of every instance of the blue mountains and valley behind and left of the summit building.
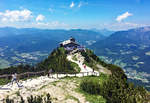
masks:
{"label": "blue mountains and valley behind and left of the summit building", "polygon": [[82,30],[49,30],[36,28],[0,28],[0,68],[18,63],[37,63],[70,37],[87,46],[105,38],[101,33]]}

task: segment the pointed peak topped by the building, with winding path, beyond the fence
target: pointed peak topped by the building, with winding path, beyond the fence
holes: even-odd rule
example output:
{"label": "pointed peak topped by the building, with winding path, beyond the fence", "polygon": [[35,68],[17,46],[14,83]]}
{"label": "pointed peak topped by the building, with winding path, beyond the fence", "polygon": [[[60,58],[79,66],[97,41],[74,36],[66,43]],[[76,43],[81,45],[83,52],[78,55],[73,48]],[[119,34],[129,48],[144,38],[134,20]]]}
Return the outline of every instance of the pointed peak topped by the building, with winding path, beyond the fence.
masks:
{"label": "pointed peak topped by the building, with winding path, beyond the fence", "polygon": [[[70,38],[61,42],[60,47],[55,49],[47,59],[39,63],[38,67],[52,68],[55,72],[71,73],[97,70],[111,74],[108,69],[101,66],[101,63],[103,62],[91,50],[78,44],[74,38]],[[83,69],[85,65],[86,69]]]}

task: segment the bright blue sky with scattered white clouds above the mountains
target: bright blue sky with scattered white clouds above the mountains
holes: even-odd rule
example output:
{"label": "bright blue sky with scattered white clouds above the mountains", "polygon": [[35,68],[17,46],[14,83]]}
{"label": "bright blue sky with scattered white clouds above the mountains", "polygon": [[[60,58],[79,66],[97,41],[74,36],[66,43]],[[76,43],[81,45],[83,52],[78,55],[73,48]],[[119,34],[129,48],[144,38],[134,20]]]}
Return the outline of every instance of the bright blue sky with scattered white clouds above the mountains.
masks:
{"label": "bright blue sky with scattered white clouds above the mountains", "polygon": [[150,25],[150,0],[0,0],[0,27],[123,30]]}

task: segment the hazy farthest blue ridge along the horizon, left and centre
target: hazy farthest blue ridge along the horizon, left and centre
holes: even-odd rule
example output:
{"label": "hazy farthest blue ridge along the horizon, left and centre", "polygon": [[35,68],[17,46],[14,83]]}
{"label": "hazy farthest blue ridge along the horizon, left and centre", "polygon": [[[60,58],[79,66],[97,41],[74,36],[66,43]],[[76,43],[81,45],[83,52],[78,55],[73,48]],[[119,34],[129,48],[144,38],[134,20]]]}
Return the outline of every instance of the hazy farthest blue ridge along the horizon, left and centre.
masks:
{"label": "hazy farthest blue ridge along the horizon, left and centre", "polygon": [[15,38],[18,35],[23,36],[39,36],[45,38],[51,38],[56,41],[63,41],[68,39],[69,37],[74,37],[79,40],[82,44],[86,45],[86,41],[97,41],[102,40],[105,36],[102,33],[92,31],[92,30],[83,30],[83,29],[71,29],[71,30],[50,30],[50,29],[37,29],[37,28],[12,28],[12,27],[5,27],[0,28],[0,38],[2,37],[10,37]]}

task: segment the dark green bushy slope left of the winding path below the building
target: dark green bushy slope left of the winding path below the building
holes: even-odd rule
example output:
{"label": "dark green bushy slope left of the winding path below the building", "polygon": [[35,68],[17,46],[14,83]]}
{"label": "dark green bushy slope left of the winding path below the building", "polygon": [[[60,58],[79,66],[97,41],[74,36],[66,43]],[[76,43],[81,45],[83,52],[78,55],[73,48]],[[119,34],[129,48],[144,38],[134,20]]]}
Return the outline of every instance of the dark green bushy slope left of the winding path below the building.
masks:
{"label": "dark green bushy slope left of the winding path below the building", "polygon": [[55,49],[47,59],[38,64],[38,68],[45,68],[47,70],[53,69],[54,72],[68,73],[77,73],[80,71],[77,64],[67,60],[64,48]]}

